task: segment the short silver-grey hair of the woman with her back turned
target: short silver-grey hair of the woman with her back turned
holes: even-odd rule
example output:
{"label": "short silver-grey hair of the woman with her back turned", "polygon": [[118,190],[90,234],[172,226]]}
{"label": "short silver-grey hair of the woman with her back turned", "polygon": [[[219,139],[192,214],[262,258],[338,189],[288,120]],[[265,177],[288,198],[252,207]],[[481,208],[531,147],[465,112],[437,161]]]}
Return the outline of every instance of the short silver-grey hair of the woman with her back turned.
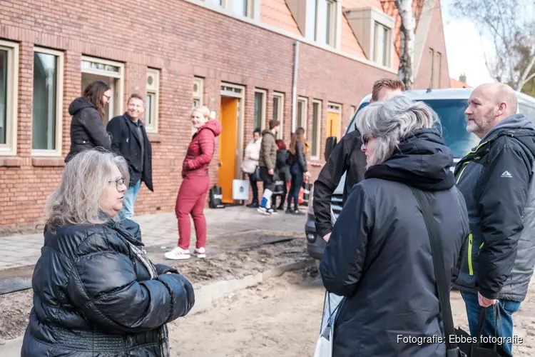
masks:
{"label": "short silver-grey hair of the woman with her back turned", "polygon": [[399,142],[411,131],[430,129],[439,123],[439,117],[427,104],[407,96],[394,96],[376,101],[357,115],[360,134],[377,139],[377,148],[368,167],[387,161]]}

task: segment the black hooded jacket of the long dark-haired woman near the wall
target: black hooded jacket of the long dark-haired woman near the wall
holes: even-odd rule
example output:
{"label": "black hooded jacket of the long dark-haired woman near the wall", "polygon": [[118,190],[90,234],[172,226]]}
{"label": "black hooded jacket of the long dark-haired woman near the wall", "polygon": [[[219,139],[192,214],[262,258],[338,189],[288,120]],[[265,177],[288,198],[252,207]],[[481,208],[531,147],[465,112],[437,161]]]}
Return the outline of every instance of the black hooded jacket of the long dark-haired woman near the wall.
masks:
{"label": "black hooded jacket of the long dark-haired woman near the wall", "polygon": [[71,150],[65,158],[70,161],[74,155],[96,146],[111,148],[111,136],[106,132],[106,126],[101,114],[87,99],[80,97],[68,106],[68,114],[73,116],[71,121]]}

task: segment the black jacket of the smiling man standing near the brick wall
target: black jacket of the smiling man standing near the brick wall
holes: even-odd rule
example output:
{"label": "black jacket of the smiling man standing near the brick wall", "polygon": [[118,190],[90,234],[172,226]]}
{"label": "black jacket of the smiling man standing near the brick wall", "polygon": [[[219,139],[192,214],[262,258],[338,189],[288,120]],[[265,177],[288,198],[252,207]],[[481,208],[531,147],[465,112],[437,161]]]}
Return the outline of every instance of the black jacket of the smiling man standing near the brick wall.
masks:
{"label": "black jacket of the smiling man standing near the brick wall", "polygon": [[[138,126],[141,128],[141,134],[143,136],[143,151]],[[151,141],[148,141],[143,122],[138,120],[138,124],[136,125],[130,116],[125,113],[111,119],[108,122],[107,130],[112,135],[111,150],[123,156],[126,162],[128,162],[130,186],[135,185],[141,178],[141,181],[145,182],[148,189],[154,191]]]}

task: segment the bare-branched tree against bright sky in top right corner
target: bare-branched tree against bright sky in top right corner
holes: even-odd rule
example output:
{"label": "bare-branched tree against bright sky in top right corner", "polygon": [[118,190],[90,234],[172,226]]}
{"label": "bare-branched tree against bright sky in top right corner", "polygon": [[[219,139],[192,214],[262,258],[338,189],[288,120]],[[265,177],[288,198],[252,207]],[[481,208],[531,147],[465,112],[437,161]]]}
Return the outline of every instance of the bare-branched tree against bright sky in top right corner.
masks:
{"label": "bare-branched tree against bright sky in top right corner", "polygon": [[452,13],[469,19],[481,36],[492,41],[484,48],[486,67],[496,81],[521,91],[535,78],[534,0],[454,0]]}

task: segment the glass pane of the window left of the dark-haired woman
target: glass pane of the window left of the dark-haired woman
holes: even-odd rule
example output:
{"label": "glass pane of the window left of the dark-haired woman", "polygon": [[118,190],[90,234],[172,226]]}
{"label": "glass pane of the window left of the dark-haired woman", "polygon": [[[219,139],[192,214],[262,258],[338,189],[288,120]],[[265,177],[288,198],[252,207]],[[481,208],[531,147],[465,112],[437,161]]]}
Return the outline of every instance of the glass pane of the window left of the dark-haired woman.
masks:
{"label": "glass pane of the window left of the dark-haired woman", "polygon": [[31,149],[56,149],[57,57],[34,53],[34,109]]}

